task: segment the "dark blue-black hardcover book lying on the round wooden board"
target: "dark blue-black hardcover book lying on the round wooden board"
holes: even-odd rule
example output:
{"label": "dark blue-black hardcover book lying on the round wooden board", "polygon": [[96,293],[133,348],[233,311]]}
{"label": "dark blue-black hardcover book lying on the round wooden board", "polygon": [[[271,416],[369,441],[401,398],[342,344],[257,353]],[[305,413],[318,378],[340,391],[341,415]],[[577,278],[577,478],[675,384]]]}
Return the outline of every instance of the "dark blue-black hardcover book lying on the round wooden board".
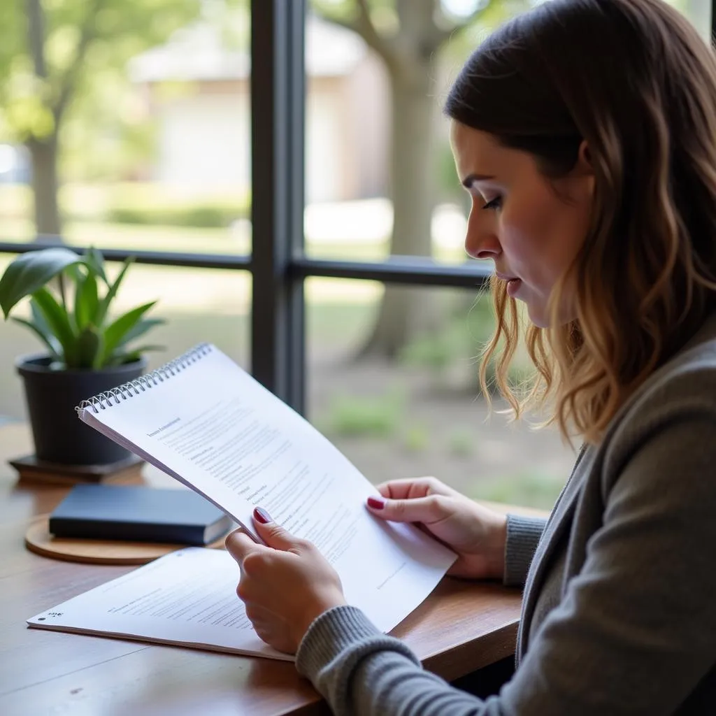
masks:
{"label": "dark blue-black hardcover book lying on the round wooden board", "polygon": [[191,490],[75,485],[49,516],[55,537],[205,545],[231,518]]}

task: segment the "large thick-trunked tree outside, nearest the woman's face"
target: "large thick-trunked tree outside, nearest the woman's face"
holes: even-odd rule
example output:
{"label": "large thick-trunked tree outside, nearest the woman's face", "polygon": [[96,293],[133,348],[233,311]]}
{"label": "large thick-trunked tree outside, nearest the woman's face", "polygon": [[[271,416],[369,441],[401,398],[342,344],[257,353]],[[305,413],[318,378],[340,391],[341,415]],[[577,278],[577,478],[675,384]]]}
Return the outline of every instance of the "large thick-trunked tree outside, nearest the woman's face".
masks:
{"label": "large thick-trunked tree outside, nearest the woman's face", "polygon": [[[390,251],[430,256],[435,208],[435,77],[440,51],[478,19],[495,24],[516,10],[477,0],[465,16],[450,16],[441,0],[316,0],[324,19],[357,32],[383,60],[390,78],[392,133]],[[491,16],[490,16],[491,15]],[[490,16],[490,17],[488,17]],[[378,319],[362,354],[395,357],[435,324],[434,306],[420,289],[386,286]]]}

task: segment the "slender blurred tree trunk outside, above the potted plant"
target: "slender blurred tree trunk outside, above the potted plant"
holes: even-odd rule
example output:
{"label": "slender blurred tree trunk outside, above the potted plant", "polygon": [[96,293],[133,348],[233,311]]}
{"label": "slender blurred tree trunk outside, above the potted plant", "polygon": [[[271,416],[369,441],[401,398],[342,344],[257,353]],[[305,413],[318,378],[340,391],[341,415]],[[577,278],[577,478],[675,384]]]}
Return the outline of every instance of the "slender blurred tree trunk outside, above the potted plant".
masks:
{"label": "slender blurred tree trunk outside, above the potted plant", "polygon": [[62,232],[57,205],[57,133],[45,140],[26,142],[32,158],[32,193],[37,240],[57,238]]}

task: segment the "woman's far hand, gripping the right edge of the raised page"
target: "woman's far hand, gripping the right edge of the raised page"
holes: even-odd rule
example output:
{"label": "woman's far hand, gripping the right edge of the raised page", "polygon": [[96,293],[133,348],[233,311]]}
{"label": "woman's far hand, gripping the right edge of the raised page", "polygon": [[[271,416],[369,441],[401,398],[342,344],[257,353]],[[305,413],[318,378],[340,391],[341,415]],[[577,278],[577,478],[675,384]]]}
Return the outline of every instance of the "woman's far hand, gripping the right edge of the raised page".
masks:
{"label": "woman's far hand, gripping the right edge of the raised page", "polygon": [[448,574],[502,579],[507,518],[461,495],[435,478],[391,480],[377,485],[382,498],[368,498],[376,517],[417,523],[458,553]]}

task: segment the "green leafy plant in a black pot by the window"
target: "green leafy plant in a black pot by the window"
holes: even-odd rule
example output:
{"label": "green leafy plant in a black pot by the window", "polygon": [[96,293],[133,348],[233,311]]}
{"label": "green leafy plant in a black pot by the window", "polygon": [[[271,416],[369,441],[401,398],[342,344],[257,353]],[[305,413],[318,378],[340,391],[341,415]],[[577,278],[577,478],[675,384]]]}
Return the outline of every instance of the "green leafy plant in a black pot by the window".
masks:
{"label": "green leafy plant in a black pot by the window", "polygon": [[82,400],[140,377],[144,353],[158,346],[135,341],[160,323],[145,317],[156,301],[111,316],[112,301],[131,259],[114,281],[100,251],[80,256],[69,248],[45,248],[18,256],[0,279],[5,319],[29,296],[29,318],[12,316],[44,345],[42,354],[20,357],[35,459],[60,465],[110,465],[129,451],[77,419]]}

